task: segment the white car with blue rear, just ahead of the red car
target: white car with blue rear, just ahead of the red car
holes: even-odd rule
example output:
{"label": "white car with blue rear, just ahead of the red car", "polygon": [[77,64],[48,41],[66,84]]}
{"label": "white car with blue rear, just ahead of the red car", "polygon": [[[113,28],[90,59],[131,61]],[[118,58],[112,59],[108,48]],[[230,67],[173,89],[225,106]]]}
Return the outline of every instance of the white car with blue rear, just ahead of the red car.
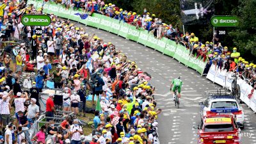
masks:
{"label": "white car with blue rear, just ahead of the red car", "polygon": [[236,118],[236,123],[244,129],[243,108],[237,102],[236,97],[231,95],[212,95],[204,102],[199,103],[201,120],[209,115],[230,114]]}

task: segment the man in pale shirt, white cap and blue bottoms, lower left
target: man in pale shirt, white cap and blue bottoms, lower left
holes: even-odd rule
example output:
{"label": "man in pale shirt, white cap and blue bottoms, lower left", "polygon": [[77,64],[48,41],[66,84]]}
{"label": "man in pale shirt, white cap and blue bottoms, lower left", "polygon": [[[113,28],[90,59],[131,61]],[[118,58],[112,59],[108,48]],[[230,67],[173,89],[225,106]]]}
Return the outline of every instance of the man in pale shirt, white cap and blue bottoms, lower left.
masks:
{"label": "man in pale shirt, white cap and blue bottoms, lower left", "polygon": [[35,119],[39,116],[39,112],[39,106],[36,105],[36,99],[31,98],[27,113],[28,128],[31,127],[32,124],[34,124]]}

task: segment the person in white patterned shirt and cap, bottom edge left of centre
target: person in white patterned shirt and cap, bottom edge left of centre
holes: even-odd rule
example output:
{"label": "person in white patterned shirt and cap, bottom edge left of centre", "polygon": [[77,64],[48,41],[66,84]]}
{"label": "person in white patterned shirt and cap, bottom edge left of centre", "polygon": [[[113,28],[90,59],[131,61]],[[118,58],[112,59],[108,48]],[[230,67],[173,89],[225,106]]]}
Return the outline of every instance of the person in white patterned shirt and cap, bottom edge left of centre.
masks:
{"label": "person in white patterned shirt and cap, bottom edge left of centre", "polygon": [[72,134],[71,142],[72,144],[81,143],[81,135],[83,135],[83,129],[78,124],[78,120],[74,120],[74,124],[70,126],[70,132]]}

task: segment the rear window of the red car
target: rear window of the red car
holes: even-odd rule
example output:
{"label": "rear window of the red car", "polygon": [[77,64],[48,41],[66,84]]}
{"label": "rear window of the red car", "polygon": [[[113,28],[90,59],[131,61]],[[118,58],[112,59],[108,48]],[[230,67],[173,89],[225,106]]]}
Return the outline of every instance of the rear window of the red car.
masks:
{"label": "rear window of the red car", "polygon": [[234,131],[232,124],[205,125],[204,132]]}

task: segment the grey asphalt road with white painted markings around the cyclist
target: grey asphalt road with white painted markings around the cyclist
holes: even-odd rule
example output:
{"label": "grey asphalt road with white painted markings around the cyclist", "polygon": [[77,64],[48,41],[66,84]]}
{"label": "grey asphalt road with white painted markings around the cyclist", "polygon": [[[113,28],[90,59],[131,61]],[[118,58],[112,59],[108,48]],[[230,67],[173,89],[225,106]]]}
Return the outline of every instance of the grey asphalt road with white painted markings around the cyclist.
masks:
{"label": "grey asphalt road with white painted markings around the cyclist", "polygon": [[[205,91],[216,89],[211,81],[201,77],[198,72],[187,68],[173,58],[154,51],[141,44],[125,40],[100,29],[78,24],[79,27],[86,29],[90,35],[102,38],[104,42],[112,42],[118,50],[121,50],[128,56],[129,60],[136,61],[138,67],[145,70],[152,76],[152,83],[156,87],[157,106],[163,109],[159,115],[159,140],[162,144],[168,143],[197,143],[197,130],[193,129],[194,124],[200,124],[200,107],[198,102],[205,99]],[[182,99],[180,99],[180,108],[174,106],[172,95],[170,94],[170,82],[173,78],[181,76],[184,85],[182,86]],[[242,137],[242,143],[256,144],[256,116],[245,104],[244,115],[246,125],[242,132],[246,132]],[[248,136],[248,134],[252,136]]]}

